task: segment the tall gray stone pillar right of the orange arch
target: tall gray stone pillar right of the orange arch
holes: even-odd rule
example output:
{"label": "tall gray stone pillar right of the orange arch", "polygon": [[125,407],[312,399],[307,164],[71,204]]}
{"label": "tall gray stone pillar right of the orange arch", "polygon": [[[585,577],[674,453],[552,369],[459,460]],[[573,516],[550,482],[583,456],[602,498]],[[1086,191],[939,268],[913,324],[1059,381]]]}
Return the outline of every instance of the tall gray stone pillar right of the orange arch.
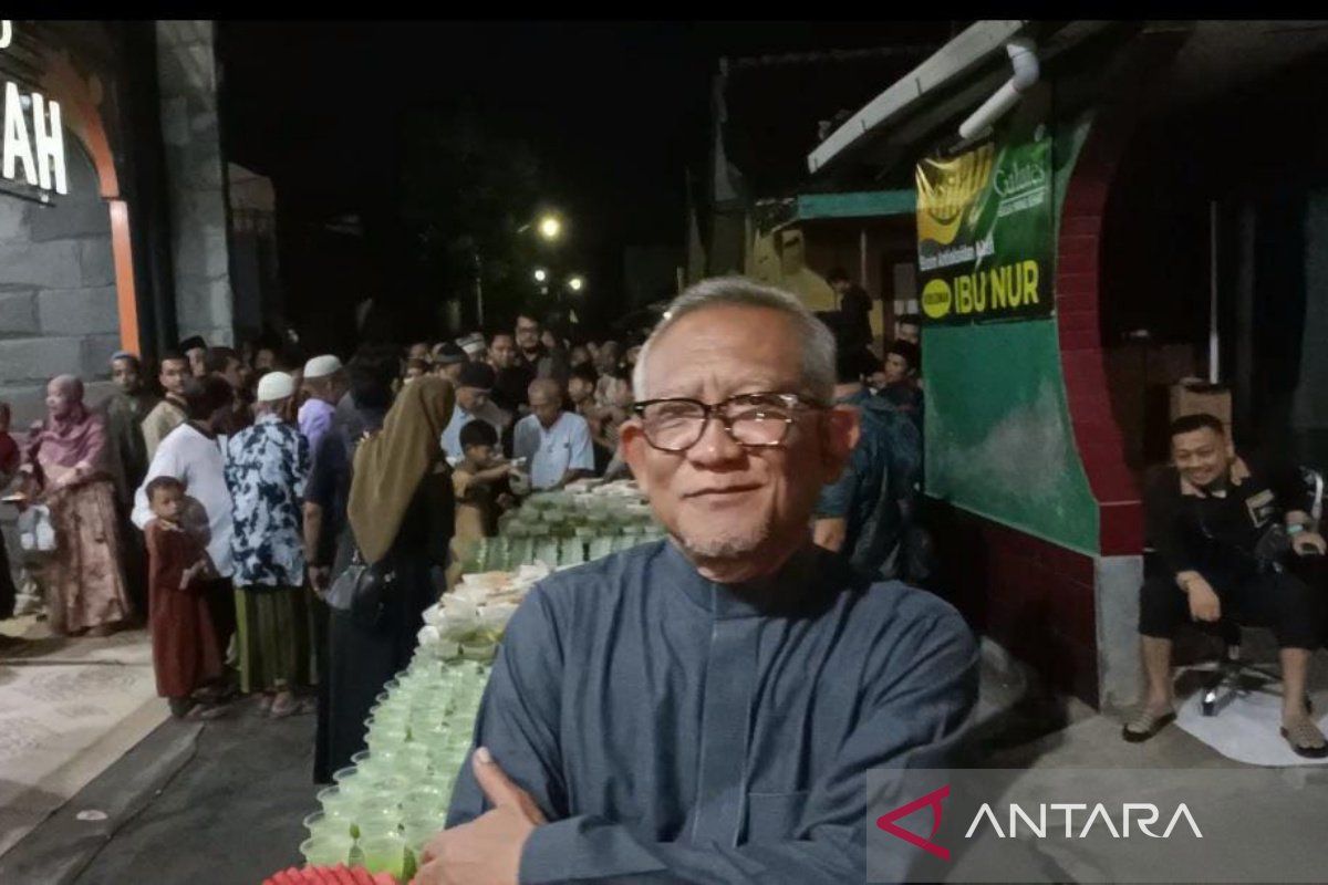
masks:
{"label": "tall gray stone pillar right of the orange arch", "polygon": [[212,23],[158,21],[157,76],[179,337],[234,344]]}

